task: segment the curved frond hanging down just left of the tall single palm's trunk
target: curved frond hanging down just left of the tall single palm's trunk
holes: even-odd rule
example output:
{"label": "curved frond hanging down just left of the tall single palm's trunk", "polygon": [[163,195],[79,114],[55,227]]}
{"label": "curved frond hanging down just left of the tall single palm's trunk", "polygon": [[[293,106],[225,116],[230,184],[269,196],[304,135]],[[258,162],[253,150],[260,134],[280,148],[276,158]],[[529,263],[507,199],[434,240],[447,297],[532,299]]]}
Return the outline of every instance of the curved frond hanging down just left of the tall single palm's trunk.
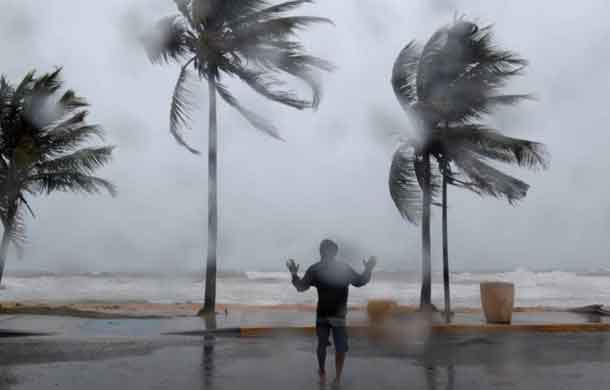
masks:
{"label": "curved frond hanging down just left of the tall single palm's trunk", "polygon": [[192,148],[182,136],[182,129],[190,128],[191,110],[194,108],[193,93],[189,89],[190,72],[188,67],[192,61],[187,62],[180,70],[169,114],[169,131],[178,142],[184,146],[189,152],[199,154],[197,149]]}

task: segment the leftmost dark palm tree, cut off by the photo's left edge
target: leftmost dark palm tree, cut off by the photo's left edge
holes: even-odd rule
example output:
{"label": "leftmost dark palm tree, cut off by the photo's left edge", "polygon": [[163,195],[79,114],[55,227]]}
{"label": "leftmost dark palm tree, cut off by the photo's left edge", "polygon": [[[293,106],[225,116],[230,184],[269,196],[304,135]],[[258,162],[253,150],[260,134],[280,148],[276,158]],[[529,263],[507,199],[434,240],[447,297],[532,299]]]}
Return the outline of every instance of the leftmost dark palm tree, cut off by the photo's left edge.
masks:
{"label": "leftmost dark palm tree, cut off by the photo's left edge", "polygon": [[107,164],[112,146],[86,146],[102,138],[99,126],[86,123],[89,106],[72,90],[62,89],[61,69],[18,85],[0,77],[0,281],[12,242],[24,243],[24,213],[33,214],[28,198],[55,191],[115,194],[107,180],[93,176]]}

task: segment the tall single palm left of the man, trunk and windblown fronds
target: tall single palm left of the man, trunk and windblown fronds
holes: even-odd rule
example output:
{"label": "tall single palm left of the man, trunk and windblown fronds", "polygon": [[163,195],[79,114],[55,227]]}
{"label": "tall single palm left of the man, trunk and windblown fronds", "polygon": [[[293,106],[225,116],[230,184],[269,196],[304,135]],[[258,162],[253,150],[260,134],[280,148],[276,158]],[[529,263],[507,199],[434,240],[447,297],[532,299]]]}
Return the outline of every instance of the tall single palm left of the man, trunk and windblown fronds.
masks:
{"label": "tall single palm left of the man, trunk and windblown fronds", "polygon": [[[170,110],[170,132],[192,153],[198,153],[182,136],[190,120],[194,101],[189,79],[194,74],[208,83],[208,248],[204,306],[200,314],[214,313],[216,303],[217,246],[217,122],[216,94],[236,109],[253,127],[281,139],[266,119],[243,107],[223,84],[222,77],[236,77],[260,95],[296,109],[317,108],[321,85],[319,70],[332,65],[308,55],[296,38],[299,30],[330,20],[312,16],[287,16],[312,0],[270,5],[266,0],[175,0],[179,14],[162,19],[145,37],[153,63],[181,64]],[[288,89],[285,75],[305,82],[311,99]]]}

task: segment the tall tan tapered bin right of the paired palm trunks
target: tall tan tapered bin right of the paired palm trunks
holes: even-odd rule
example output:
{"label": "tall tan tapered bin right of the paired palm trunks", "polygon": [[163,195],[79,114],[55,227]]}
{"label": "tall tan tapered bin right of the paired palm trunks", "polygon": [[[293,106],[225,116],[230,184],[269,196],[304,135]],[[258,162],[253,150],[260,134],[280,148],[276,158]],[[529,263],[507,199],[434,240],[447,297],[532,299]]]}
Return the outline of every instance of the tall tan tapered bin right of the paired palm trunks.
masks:
{"label": "tall tan tapered bin right of the paired palm trunks", "polygon": [[490,324],[510,324],[515,302],[515,285],[507,282],[482,282],[481,304]]}

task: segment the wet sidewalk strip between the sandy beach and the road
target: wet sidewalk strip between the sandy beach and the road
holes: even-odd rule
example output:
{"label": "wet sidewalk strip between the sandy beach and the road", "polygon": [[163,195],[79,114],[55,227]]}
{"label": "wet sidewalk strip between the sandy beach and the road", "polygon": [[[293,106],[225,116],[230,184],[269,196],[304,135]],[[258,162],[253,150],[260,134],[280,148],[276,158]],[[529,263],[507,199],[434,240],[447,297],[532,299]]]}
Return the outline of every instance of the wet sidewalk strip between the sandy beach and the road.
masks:
{"label": "wet sidewalk strip between the sandy beach and the road", "polygon": [[[392,323],[408,327],[419,321],[410,314]],[[217,315],[216,324],[199,317],[92,319],[44,315],[0,315],[0,333],[51,333],[65,337],[158,337],[161,335],[202,335],[216,332],[260,336],[273,332],[312,334],[315,313],[302,310],[243,310]],[[421,325],[421,321],[417,322]],[[591,332],[610,331],[610,317],[571,312],[517,312],[511,325],[489,325],[479,312],[456,313],[446,325],[441,313],[427,322],[432,332]],[[366,312],[351,311],[348,326],[353,334],[366,331]]]}

